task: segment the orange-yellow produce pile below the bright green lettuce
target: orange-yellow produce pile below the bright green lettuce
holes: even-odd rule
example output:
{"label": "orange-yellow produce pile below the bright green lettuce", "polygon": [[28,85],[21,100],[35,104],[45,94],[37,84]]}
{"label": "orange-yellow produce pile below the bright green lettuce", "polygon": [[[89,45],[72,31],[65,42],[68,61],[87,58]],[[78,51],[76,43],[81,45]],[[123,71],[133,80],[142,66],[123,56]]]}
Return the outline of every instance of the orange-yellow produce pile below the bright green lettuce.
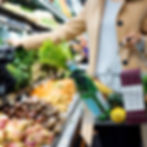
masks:
{"label": "orange-yellow produce pile below the bright green lettuce", "polygon": [[50,103],[60,112],[66,112],[76,93],[74,81],[66,78],[62,80],[48,80],[36,86],[31,96]]}

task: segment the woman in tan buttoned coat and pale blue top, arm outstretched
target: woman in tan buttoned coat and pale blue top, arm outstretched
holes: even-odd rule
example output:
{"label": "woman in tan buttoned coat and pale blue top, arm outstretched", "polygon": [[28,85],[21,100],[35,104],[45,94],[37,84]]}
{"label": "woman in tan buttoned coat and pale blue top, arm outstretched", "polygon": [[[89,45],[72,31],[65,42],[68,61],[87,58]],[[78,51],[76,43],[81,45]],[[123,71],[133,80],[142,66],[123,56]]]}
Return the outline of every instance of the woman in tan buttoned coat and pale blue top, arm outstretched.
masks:
{"label": "woman in tan buttoned coat and pale blue top, arm outstretched", "polygon": [[[147,71],[144,60],[140,58],[140,54],[147,51],[146,20],[147,0],[89,0],[80,15],[56,31],[11,40],[11,43],[33,49],[38,48],[45,40],[51,39],[58,43],[74,39],[87,31],[90,48],[88,73],[119,90],[120,81],[117,75],[121,70],[141,67],[143,71]],[[139,50],[139,43],[142,43],[143,53],[135,51]],[[130,46],[136,48],[132,51]],[[125,133],[128,133],[127,129],[123,136],[119,134],[120,137],[125,137]],[[132,146],[123,144],[124,142],[114,144],[113,139],[109,139],[112,140],[113,147]]]}

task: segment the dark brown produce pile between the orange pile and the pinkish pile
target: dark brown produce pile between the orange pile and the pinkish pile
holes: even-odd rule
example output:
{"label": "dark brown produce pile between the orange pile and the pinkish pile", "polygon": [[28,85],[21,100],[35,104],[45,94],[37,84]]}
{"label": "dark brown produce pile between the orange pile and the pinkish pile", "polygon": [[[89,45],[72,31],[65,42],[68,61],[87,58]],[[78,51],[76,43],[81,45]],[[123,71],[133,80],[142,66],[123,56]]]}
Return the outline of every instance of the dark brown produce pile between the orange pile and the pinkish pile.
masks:
{"label": "dark brown produce pile between the orange pile and the pinkish pile", "polygon": [[53,136],[58,135],[64,123],[64,115],[50,104],[36,98],[26,98],[23,101],[7,101],[0,109],[9,118],[27,119],[39,123]]}

